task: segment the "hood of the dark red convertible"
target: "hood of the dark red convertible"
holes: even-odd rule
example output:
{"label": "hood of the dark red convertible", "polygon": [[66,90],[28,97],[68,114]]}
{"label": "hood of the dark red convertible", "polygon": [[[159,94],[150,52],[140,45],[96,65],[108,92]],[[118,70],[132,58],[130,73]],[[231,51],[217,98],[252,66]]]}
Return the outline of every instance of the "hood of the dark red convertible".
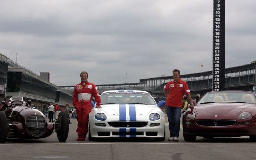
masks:
{"label": "hood of the dark red convertible", "polygon": [[195,106],[198,114],[237,114],[251,104],[218,103]]}

